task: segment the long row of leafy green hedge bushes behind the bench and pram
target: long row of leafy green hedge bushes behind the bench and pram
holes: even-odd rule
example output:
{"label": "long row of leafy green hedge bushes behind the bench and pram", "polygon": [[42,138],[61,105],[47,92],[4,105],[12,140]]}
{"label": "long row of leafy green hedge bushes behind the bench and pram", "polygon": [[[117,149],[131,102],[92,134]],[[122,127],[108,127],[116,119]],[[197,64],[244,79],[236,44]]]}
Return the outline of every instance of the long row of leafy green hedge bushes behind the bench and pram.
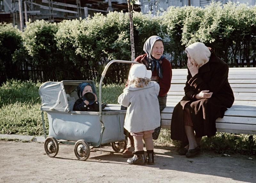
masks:
{"label": "long row of leafy green hedge bushes behind the bench and pram", "polygon": [[[170,54],[168,59],[173,68],[186,67],[184,50],[196,41],[214,48],[231,67],[238,67],[238,60],[243,59],[247,66],[254,60],[255,66],[255,6],[232,2],[212,2],[204,9],[171,6],[162,16],[133,12],[133,24],[135,56],[144,54],[143,45],[148,37],[159,35],[165,40],[164,53]],[[7,38],[11,41],[6,41]],[[12,44],[6,44],[10,42]],[[3,46],[0,50],[3,81],[19,78],[22,73],[18,67],[24,63],[43,70],[44,81],[99,81],[109,61],[131,59],[129,16],[128,13],[109,12],[58,24],[29,21],[23,33],[10,24],[0,24],[0,44]],[[13,69],[4,72],[11,68],[8,64],[12,64]],[[104,82],[124,83],[129,67],[127,64],[113,64]]]}

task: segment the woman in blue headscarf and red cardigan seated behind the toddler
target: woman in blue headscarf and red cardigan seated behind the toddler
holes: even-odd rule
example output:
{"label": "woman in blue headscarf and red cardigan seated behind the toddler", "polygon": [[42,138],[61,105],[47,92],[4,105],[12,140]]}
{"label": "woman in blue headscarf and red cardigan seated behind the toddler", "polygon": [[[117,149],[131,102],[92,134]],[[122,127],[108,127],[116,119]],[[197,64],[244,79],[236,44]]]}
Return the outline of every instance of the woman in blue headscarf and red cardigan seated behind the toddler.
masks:
{"label": "woman in blue headscarf and red cardigan seated behind the toddler", "polygon": [[[134,61],[143,63],[147,70],[152,71],[151,81],[156,81],[160,85],[160,91],[158,94],[158,101],[160,106],[160,112],[166,106],[167,92],[171,87],[172,79],[172,66],[171,63],[164,58],[164,41],[159,36],[151,36],[144,43],[143,51],[144,55],[138,56]],[[127,81],[128,83],[129,81]],[[126,84],[127,86],[127,84]],[[141,106],[147,107],[147,106]],[[147,115],[147,114],[144,114]],[[157,139],[161,130],[160,127],[155,129],[153,133],[153,139]],[[124,151],[123,157],[132,157],[132,152],[129,149],[133,146],[133,138],[128,136],[127,150]]]}

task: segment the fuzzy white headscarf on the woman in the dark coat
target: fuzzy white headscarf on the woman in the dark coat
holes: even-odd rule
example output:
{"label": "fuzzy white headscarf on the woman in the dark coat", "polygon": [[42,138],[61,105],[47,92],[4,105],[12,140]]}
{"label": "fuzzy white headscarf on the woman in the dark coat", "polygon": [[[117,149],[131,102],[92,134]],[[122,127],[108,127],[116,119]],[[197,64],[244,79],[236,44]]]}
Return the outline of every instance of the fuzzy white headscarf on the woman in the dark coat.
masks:
{"label": "fuzzy white headscarf on the woman in the dark coat", "polygon": [[202,65],[209,62],[211,52],[208,47],[204,45],[204,43],[201,42],[195,42],[191,45],[189,45],[185,52],[188,53],[191,57],[191,59],[194,59],[197,65],[199,67],[202,67]]}

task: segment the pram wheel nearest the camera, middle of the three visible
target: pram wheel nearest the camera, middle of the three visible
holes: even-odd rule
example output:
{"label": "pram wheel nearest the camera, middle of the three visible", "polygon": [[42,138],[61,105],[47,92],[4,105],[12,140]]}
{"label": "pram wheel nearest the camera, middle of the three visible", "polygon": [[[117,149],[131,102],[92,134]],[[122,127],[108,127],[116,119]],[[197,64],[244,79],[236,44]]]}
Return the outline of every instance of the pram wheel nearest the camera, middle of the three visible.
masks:
{"label": "pram wheel nearest the camera, middle of the three visible", "polygon": [[74,151],[77,159],[81,161],[85,161],[86,159],[88,159],[91,153],[89,144],[84,140],[76,141]]}

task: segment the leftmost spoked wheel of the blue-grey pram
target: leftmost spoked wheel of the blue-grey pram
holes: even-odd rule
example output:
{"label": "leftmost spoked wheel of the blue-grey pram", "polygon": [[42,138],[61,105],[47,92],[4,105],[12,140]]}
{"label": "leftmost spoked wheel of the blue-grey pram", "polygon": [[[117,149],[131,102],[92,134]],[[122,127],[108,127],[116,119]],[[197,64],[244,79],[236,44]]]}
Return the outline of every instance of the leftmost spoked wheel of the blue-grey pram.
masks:
{"label": "leftmost spoked wheel of the blue-grey pram", "polygon": [[49,136],[44,141],[44,150],[49,157],[55,157],[59,152],[59,144],[56,138]]}

